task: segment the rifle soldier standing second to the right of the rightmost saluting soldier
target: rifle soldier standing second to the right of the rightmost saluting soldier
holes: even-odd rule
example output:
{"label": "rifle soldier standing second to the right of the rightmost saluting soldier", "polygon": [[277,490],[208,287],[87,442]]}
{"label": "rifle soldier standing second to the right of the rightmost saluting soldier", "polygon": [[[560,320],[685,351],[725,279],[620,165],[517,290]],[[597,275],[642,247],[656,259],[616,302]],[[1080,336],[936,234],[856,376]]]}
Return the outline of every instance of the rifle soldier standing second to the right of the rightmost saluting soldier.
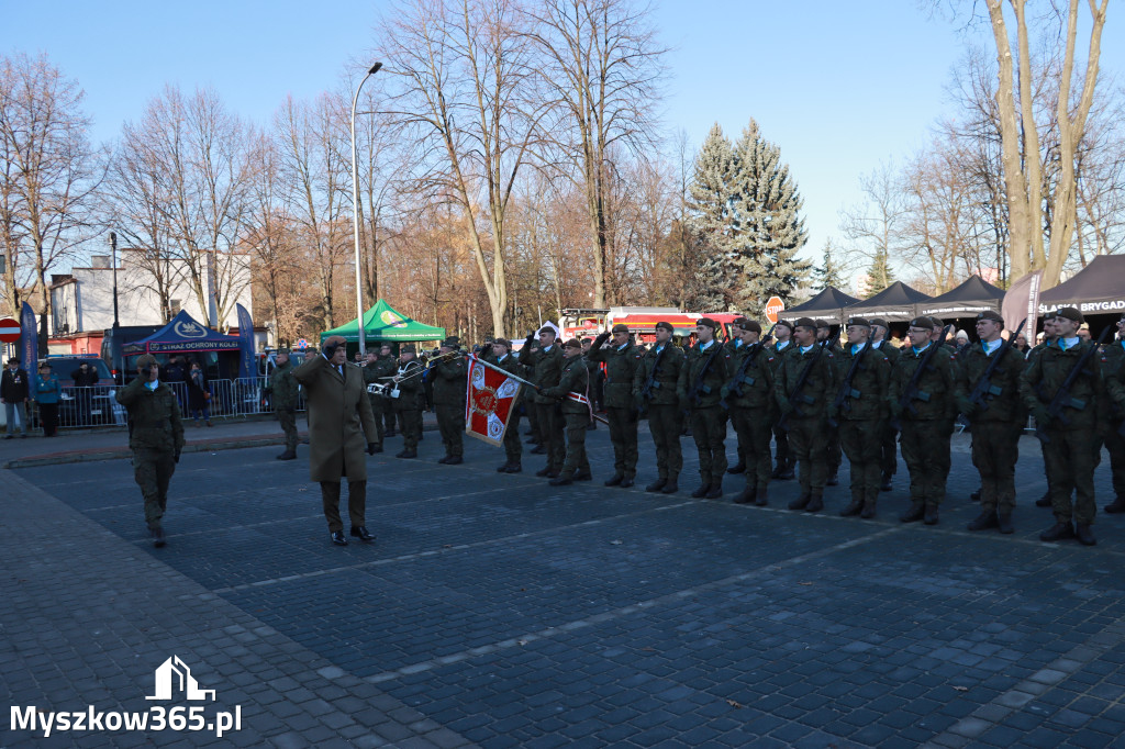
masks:
{"label": "rifle soldier standing second to the right of the rightmost saluting soldier", "polygon": [[691,409],[692,437],[700,455],[700,486],[692,496],[708,499],[722,496],[722,477],[727,472],[727,415],[719,405],[727,383],[727,360],[722,344],[714,337],[718,327],[710,317],[701,317],[695,324],[699,342],[687,351],[676,383],[681,405]]}

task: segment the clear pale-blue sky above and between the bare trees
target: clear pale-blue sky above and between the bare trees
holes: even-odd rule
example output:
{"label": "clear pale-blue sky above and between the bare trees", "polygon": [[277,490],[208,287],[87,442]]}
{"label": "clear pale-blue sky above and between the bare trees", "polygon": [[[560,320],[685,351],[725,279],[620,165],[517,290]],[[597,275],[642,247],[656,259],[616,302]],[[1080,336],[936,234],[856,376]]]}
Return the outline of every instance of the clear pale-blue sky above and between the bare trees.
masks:
{"label": "clear pale-blue sky above and between the bare trees", "polygon": [[[165,83],[212,85],[266,124],[287,94],[335,88],[350,60],[367,60],[380,7],[0,0],[0,48],[46,52],[84,88],[96,139],[111,141]],[[655,25],[672,47],[665,132],[698,146],[716,121],[737,137],[757,119],[804,196],[806,254],[818,260],[860,175],[921,147],[948,111],[966,38],[910,0],[663,0]],[[1110,13],[1104,70],[1122,70],[1123,29]]]}

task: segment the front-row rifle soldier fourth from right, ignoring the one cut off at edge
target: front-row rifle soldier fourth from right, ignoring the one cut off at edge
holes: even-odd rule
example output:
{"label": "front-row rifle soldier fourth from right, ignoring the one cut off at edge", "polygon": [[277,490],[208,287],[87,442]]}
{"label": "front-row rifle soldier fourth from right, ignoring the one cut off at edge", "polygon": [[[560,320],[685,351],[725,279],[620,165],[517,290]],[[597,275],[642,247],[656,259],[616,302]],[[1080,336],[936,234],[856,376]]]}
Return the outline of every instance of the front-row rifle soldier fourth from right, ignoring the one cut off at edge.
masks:
{"label": "front-row rifle soldier fourth from right, ignoring the one cut off at edge", "polygon": [[839,386],[828,406],[828,417],[839,426],[840,446],[852,473],[852,502],[840,515],[870,520],[879,503],[881,437],[889,414],[891,364],[882,351],[871,346],[871,323],[863,317],[847,322],[847,345],[838,360]]}

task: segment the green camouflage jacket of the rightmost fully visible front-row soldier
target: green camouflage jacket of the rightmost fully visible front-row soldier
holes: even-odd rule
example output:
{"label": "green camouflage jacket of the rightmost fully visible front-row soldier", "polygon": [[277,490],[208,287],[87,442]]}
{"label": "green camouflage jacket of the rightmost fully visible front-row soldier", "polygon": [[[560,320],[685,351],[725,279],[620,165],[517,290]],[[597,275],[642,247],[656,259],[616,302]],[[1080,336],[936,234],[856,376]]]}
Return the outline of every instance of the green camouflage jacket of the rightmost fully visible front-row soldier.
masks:
{"label": "green camouflage jacket of the rightmost fully visible front-row soldier", "polygon": [[[1020,381],[1020,394],[1028,410],[1035,413],[1036,409],[1051,404],[1079,357],[1092,345],[1097,344],[1092,341],[1080,340],[1078,345],[1065,351],[1059,346],[1058,341],[1050,346],[1044,346],[1040,355],[1024,370],[1024,377]],[[1064,407],[1062,412],[1062,415],[1070,423],[1053,419],[1044,426],[1059,430],[1091,431],[1101,426],[1099,416],[1106,413],[1108,405],[1105,382],[1101,379],[1101,357],[1096,353],[1087,359],[1084,369],[1086,371],[1079,374],[1070,387],[1071,405]],[[1081,407],[1076,407],[1079,404]]]}

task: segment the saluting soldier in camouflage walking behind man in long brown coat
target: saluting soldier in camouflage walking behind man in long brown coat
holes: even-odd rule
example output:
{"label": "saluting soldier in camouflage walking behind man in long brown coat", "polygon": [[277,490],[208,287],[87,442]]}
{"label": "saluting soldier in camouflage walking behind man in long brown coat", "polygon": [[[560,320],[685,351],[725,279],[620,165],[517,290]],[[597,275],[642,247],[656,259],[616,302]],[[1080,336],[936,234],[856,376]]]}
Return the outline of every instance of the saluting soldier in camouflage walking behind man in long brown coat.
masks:
{"label": "saluting soldier in camouflage walking behind man in long brown coat", "polygon": [[156,358],[137,360],[137,378],[117,391],[117,403],[129,414],[133,476],[144,495],[144,521],[154,547],[164,545],[161,518],[168,509],[168,485],[183,450],[183,424],[176,394],[160,381]]}

